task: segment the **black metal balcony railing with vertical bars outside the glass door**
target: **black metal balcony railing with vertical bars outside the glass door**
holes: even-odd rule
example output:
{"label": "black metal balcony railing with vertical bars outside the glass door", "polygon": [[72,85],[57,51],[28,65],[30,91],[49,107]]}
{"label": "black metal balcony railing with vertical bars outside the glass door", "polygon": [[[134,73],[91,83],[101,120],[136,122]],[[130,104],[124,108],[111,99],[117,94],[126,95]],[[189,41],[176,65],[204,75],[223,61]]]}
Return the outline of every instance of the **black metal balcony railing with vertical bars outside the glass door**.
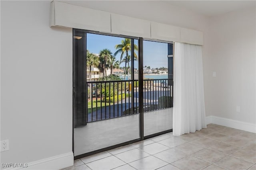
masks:
{"label": "black metal balcony railing with vertical bars outside the glass door", "polygon": [[87,121],[98,121],[139,113],[139,97],[144,112],[172,107],[172,79],[143,81],[143,96],[138,80],[95,81],[87,84]]}

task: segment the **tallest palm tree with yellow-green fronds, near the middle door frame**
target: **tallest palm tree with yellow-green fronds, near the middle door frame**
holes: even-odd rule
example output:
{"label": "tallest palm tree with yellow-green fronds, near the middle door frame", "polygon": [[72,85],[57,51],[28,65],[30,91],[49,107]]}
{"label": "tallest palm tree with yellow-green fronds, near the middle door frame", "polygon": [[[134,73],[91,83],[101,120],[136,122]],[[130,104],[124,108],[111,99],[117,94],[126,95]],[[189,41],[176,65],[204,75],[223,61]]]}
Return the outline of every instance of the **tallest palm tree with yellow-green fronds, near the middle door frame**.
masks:
{"label": "tallest palm tree with yellow-green fronds, near the middle door frame", "polygon": [[[121,44],[116,45],[115,48],[117,49],[117,51],[114,53],[114,56],[116,56],[118,53],[121,54],[120,63],[123,59],[123,55],[124,54],[126,55],[126,57],[125,57],[125,67],[124,67],[124,69],[125,69],[124,70],[124,78],[125,78],[128,53],[129,53],[129,51],[132,50],[132,48],[131,48],[131,39],[129,39],[129,38],[122,39]],[[138,59],[138,56],[135,53],[135,51],[138,51],[138,46],[134,44],[134,59]],[[128,79],[129,79],[129,77],[128,77]]]}

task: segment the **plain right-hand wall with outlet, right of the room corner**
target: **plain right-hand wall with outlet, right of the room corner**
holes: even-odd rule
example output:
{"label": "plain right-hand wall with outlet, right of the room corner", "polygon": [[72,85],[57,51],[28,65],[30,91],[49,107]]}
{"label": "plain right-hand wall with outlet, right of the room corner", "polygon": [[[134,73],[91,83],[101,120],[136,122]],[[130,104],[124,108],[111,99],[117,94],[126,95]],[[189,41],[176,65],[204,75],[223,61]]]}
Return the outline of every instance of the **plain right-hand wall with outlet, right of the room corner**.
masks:
{"label": "plain right-hand wall with outlet, right of the room corner", "polygon": [[[210,19],[212,115],[256,123],[256,12],[230,12]],[[240,106],[240,112],[236,112]]]}

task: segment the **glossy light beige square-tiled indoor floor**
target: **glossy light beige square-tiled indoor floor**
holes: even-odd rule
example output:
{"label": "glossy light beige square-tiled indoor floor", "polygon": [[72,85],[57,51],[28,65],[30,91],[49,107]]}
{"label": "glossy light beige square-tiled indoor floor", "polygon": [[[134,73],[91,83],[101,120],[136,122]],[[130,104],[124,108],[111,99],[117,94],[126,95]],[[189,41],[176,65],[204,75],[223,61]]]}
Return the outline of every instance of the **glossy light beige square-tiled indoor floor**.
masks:
{"label": "glossy light beige square-tiled indoor floor", "polygon": [[210,124],[164,134],[74,161],[68,170],[256,170],[256,134]]}

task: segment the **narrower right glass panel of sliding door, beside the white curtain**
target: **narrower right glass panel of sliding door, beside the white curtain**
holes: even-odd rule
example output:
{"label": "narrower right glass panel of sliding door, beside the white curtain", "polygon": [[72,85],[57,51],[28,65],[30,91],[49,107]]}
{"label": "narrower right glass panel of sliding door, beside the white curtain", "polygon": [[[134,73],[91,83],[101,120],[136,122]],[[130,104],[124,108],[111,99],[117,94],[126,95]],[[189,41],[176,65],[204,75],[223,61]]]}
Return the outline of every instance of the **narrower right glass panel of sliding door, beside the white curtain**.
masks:
{"label": "narrower right glass panel of sliding door, beside the white curtain", "polygon": [[143,41],[144,136],[172,129],[172,44]]}

